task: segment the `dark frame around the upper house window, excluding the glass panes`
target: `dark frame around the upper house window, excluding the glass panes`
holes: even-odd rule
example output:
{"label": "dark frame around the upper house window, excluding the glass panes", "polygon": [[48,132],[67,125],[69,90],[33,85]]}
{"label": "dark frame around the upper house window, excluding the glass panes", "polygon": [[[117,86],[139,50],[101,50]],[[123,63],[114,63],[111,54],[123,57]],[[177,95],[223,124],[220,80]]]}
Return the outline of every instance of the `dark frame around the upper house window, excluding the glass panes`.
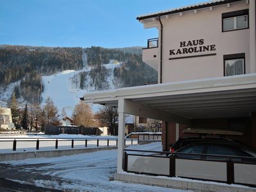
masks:
{"label": "dark frame around the upper house window, excluding the glass panes", "polygon": [[[236,27],[236,22],[237,22],[237,17],[241,17],[241,16],[247,16],[247,27],[246,28],[234,28],[234,29],[230,29],[230,30],[224,30],[224,19],[230,19],[230,18],[235,18],[234,19],[234,27]],[[237,30],[241,30],[241,29],[249,29],[249,10],[239,10],[239,11],[235,11],[235,12],[228,12],[228,13],[222,13],[221,15],[221,28],[222,28],[222,32],[228,32],[228,31],[237,31]]]}

